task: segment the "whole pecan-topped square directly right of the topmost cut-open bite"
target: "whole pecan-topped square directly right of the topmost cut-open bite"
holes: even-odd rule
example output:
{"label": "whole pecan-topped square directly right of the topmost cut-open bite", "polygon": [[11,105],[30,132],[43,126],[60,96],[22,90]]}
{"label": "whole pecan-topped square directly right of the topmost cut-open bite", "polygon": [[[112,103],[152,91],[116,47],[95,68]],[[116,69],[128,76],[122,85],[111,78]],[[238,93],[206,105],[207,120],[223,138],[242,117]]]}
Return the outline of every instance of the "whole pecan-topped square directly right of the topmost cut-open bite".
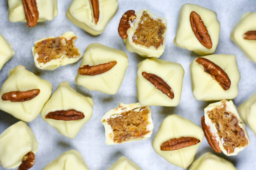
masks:
{"label": "whole pecan-topped square directly right of the topmost cut-open bite", "polygon": [[219,42],[220,22],[217,14],[195,4],[184,4],[173,43],[199,55],[211,54]]}

